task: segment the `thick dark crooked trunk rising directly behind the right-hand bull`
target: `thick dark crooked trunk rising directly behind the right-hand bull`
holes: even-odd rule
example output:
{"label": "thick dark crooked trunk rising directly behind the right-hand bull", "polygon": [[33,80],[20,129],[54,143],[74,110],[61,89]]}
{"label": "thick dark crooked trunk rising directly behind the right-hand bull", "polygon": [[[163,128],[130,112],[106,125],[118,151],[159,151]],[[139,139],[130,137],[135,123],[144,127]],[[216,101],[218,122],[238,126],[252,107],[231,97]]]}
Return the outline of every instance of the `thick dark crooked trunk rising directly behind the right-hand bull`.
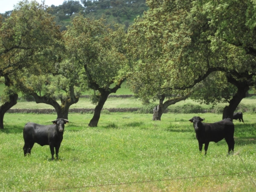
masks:
{"label": "thick dark crooked trunk rising directly behind the right-hand bull", "polygon": [[236,85],[237,92],[236,94],[233,96],[233,98],[230,100],[229,105],[225,106],[224,110],[223,110],[223,114],[222,114],[222,119],[226,119],[226,118],[230,118],[233,120],[233,114],[237,108],[237,106],[239,105],[239,103],[241,102],[241,100],[243,98],[245,98],[247,91],[249,90],[249,85],[247,83],[247,81],[236,81],[234,79],[228,79],[228,81],[234,85]]}

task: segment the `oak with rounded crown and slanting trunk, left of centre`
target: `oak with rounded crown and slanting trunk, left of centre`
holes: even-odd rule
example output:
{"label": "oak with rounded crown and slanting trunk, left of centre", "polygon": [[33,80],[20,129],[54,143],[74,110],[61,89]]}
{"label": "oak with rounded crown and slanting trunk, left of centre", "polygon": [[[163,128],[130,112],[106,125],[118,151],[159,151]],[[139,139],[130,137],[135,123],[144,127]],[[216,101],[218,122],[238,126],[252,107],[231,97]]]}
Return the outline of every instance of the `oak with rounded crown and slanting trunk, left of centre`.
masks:
{"label": "oak with rounded crown and slanting trunk, left of centre", "polygon": [[[126,79],[129,69],[124,48],[124,27],[114,29],[105,20],[91,20],[82,15],[75,17],[64,32],[70,61],[84,68],[85,84],[98,91],[94,96],[96,108],[89,126],[97,126],[101,109],[111,93],[116,93]],[[116,84],[111,88],[111,84]]]}

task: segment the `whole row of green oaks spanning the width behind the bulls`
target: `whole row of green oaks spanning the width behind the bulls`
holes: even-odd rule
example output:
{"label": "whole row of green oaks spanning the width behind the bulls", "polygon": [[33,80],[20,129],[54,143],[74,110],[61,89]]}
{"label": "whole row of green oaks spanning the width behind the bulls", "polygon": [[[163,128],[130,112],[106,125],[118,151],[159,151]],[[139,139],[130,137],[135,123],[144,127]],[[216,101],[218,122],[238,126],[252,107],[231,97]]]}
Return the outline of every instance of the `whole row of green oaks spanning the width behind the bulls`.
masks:
{"label": "whole row of green oaks spanning the width behind the bulls", "polygon": [[[94,14],[100,7],[113,15],[143,1],[82,3],[85,9],[78,1],[47,7],[25,0],[1,17],[0,76],[6,85],[1,128],[18,92],[52,105],[57,118],[67,119],[70,105],[91,89],[96,108],[89,126],[94,127],[108,95],[125,80],[144,103],[159,101],[157,120],[169,105],[188,97],[213,105],[227,102],[223,118],[233,118],[247,91],[255,87],[256,9],[249,0],[148,0],[148,10],[126,26],[127,32],[118,22],[110,25],[106,14]],[[60,12],[65,17],[82,14],[61,32],[53,16]]]}

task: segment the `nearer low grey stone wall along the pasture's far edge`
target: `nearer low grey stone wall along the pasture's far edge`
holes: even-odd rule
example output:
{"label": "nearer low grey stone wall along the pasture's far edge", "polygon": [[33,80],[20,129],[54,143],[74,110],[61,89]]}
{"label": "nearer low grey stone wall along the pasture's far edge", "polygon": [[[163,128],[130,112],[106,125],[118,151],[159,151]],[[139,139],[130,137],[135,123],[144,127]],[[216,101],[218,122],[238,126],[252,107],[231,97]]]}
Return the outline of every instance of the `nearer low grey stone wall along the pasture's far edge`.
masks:
{"label": "nearer low grey stone wall along the pasture's far edge", "polygon": [[[140,108],[103,108],[103,110],[108,110],[109,112],[134,112],[138,111]],[[69,113],[88,113],[93,112],[94,108],[72,108],[69,109]],[[55,109],[9,109],[6,113],[44,113],[51,114],[56,113]]]}

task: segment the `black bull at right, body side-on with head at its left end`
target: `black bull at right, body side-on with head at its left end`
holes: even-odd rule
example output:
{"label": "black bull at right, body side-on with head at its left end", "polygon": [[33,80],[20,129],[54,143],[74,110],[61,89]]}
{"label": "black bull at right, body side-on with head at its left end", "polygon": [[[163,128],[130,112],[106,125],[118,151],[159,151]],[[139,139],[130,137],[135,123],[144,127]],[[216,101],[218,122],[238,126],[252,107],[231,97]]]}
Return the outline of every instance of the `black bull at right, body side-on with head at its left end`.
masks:
{"label": "black bull at right, body side-on with head at its left end", "polygon": [[222,121],[215,123],[203,123],[204,118],[200,116],[194,116],[192,119],[189,119],[193,123],[196,138],[199,144],[199,151],[202,151],[204,144],[205,155],[207,154],[207,149],[210,141],[215,143],[220,140],[225,139],[228,145],[228,153],[230,151],[234,152],[234,131],[235,126],[231,119],[223,119]]}

